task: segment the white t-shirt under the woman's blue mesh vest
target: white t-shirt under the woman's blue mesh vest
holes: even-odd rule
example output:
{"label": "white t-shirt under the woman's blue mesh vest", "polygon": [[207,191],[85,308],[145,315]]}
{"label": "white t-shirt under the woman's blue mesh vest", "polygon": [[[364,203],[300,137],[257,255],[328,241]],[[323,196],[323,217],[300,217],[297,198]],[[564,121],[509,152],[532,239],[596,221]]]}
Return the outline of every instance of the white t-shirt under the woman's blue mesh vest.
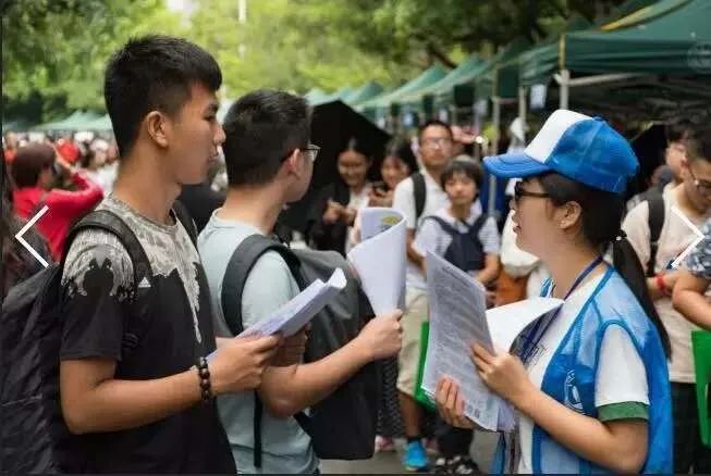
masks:
{"label": "white t-shirt under the woman's blue mesh vest", "polygon": [[[557,317],[551,323],[537,346],[537,352],[527,366],[531,383],[541,388],[543,375],[553,354],[562,343],[575,318],[597,289],[604,274],[584,283],[565,300]],[[598,375],[594,386],[594,405],[600,408],[613,403],[639,402],[649,404],[647,372],[629,335],[620,326],[605,330],[600,348]],[[581,409],[580,409],[581,410]],[[519,474],[532,473],[534,422],[525,415],[518,417]]]}

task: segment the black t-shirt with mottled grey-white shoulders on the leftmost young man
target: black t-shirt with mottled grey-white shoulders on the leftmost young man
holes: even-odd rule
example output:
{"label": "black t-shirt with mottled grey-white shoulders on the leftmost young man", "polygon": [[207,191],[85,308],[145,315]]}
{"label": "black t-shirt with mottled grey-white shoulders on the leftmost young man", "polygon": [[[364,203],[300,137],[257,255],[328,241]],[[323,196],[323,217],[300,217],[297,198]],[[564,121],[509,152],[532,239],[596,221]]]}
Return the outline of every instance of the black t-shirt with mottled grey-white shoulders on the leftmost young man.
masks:
{"label": "black t-shirt with mottled grey-white shoulders on the leftmost young man", "polygon": [[[135,318],[134,273],[121,242],[106,231],[82,231],[62,278],[61,359],[112,359],[117,379],[185,372],[197,355],[214,350],[208,286],[187,231],[180,223],[151,222],[112,197],[99,208],[119,214],[148,255],[152,276],[138,284],[146,318],[138,327],[140,338],[132,339],[126,323]],[[138,428],[76,437],[73,447],[82,452],[87,472],[236,472],[214,402]]]}

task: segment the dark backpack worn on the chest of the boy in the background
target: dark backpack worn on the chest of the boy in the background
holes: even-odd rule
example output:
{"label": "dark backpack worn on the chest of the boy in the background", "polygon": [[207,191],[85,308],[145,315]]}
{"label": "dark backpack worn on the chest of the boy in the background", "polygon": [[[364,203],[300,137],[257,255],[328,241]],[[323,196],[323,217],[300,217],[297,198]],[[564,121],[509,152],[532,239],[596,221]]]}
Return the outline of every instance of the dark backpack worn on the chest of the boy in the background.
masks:
{"label": "dark backpack worn on the chest of the boy in the background", "polygon": [[437,222],[440,228],[452,238],[452,242],[444,251],[443,258],[459,270],[468,273],[483,270],[486,253],[481,240],[479,240],[479,231],[488,217],[488,215],[481,214],[471,226],[461,221],[459,223],[466,227],[464,233],[439,216],[430,215],[425,220]]}

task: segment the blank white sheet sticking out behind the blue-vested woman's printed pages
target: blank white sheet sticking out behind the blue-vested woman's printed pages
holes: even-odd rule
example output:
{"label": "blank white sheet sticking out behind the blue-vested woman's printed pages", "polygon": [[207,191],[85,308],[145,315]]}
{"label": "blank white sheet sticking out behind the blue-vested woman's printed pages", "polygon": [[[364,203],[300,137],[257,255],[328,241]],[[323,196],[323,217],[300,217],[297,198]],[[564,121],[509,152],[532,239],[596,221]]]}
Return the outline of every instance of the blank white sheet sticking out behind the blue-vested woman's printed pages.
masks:
{"label": "blank white sheet sticking out behind the blue-vested woman's printed pages", "polygon": [[526,326],[561,305],[562,299],[531,298],[488,310],[487,323],[494,348],[510,351]]}

